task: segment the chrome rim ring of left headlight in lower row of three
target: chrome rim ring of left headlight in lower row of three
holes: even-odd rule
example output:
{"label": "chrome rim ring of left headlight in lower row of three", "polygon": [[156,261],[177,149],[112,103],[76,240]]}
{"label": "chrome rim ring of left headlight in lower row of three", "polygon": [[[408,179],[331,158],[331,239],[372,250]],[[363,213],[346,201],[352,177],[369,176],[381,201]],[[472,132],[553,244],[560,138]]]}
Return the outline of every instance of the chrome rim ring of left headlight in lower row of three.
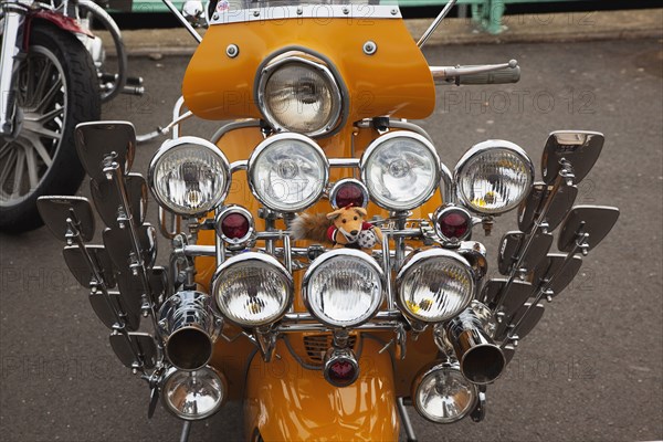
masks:
{"label": "chrome rim ring of left headlight in lower row of three", "polygon": [[[267,265],[272,266],[274,270],[278,271],[278,273],[282,276],[285,276],[285,280],[287,283],[287,293],[286,293],[286,299],[285,299],[284,306],[278,311],[277,315],[274,315],[274,318],[272,318],[270,320],[264,320],[261,324],[250,324],[250,325],[242,324],[241,322],[238,322],[233,317],[228,315],[219,303],[218,284],[219,284],[219,278],[221,277],[223,272],[235,264],[244,264],[245,262],[249,262],[249,261],[257,261],[261,264],[267,264]],[[294,299],[293,275],[285,269],[285,266],[283,264],[281,264],[281,262],[278,260],[276,260],[274,256],[269,255],[266,253],[245,252],[245,253],[241,253],[239,255],[229,257],[221,265],[219,265],[217,267],[217,270],[214,271],[214,274],[212,275],[212,280],[211,280],[210,284],[212,287],[211,293],[212,293],[212,296],[214,299],[214,306],[217,308],[217,312],[219,312],[224,319],[228,319],[230,323],[236,325],[238,327],[242,327],[242,328],[260,328],[260,327],[264,327],[266,325],[274,324],[274,323],[281,320],[281,318],[283,318],[283,316],[287,313],[287,311],[291,307],[291,305],[293,304],[293,299]]]}

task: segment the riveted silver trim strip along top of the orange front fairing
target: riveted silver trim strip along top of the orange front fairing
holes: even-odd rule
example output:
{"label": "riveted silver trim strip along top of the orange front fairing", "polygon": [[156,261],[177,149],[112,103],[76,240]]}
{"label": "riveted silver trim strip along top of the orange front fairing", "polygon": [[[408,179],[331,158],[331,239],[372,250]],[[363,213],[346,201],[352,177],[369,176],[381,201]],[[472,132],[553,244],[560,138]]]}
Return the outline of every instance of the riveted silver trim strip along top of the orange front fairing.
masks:
{"label": "riveted silver trim strip along top of the orange front fairing", "polygon": [[400,9],[396,4],[305,4],[214,12],[210,25],[287,19],[314,19],[324,23],[330,19],[378,20],[401,18]]}

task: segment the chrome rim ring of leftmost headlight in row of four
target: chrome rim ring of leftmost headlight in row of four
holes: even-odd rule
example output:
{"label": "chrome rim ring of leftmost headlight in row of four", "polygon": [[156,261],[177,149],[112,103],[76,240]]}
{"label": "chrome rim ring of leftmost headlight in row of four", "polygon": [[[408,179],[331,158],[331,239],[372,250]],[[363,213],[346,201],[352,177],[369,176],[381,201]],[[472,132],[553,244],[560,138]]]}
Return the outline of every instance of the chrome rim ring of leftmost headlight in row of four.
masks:
{"label": "chrome rim ring of leftmost headlight in row of four", "polygon": [[[210,209],[201,210],[201,211],[198,211],[194,213],[183,213],[183,212],[178,212],[175,209],[172,209],[169,206],[169,203],[161,198],[161,196],[159,194],[159,192],[156,189],[156,183],[155,183],[155,178],[156,178],[155,175],[156,175],[156,169],[157,169],[159,161],[164,158],[164,156],[167,152],[169,152],[173,149],[177,149],[181,146],[185,146],[185,145],[196,145],[198,147],[201,147],[201,148],[207,149],[210,152],[212,152],[221,161],[221,164],[223,166],[224,175],[225,175],[224,180],[223,180],[222,192],[221,192],[219,200]],[[232,182],[232,171],[230,168],[230,161],[228,161],[228,158],[225,157],[223,151],[218,146],[215,146],[213,143],[208,141],[204,138],[194,137],[194,136],[183,136],[183,137],[179,137],[179,138],[175,138],[175,139],[167,139],[166,141],[164,141],[161,144],[161,147],[159,147],[159,149],[156,151],[156,154],[152,156],[151,160],[149,161],[148,171],[147,171],[147,185],[149,187],[151,194],[157,200],[157,203],[159,204],[159,207],[162,207],[164,209],[168,210],[171,213],[175,213],[176,215],[189,218],[189,219],[203,217],[204,214],[215,210],[220,204],[222,204],[223,201],[225,201],[225,198],[228,198],[228,192],[230,191],[231,182]]]}

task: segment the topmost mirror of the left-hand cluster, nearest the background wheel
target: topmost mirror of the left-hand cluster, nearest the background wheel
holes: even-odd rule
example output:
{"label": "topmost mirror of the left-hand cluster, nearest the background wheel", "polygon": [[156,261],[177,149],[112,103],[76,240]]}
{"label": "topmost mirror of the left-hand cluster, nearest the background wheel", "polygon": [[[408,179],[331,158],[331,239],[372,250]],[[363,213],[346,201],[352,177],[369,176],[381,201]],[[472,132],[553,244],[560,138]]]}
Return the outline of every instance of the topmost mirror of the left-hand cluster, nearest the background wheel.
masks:
{"label": "topmost mirror of the left-hand cluster, nearest the background wheel", "polygon": [[128,122],[81,123],[75,131],[76,150],[83,168],[93,180],[106,180],[104,168],[117,162],[127,173],[136,152],[136,130]]}

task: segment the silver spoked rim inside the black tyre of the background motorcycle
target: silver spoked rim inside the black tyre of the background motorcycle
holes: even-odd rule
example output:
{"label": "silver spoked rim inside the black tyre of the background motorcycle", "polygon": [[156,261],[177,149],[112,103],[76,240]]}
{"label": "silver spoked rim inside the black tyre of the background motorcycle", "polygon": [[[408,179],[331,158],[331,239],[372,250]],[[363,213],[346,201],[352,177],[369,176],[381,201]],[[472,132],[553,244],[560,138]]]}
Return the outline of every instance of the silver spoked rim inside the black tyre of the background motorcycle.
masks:
{"label": "silver spoked rim inside the black tyre of the background motorcycle", "polygon": [[18,73],[19,134],[0,147],[0,207],[29,198],[49,173],[63,140],[67,91],[64,69],[33,46]]}

